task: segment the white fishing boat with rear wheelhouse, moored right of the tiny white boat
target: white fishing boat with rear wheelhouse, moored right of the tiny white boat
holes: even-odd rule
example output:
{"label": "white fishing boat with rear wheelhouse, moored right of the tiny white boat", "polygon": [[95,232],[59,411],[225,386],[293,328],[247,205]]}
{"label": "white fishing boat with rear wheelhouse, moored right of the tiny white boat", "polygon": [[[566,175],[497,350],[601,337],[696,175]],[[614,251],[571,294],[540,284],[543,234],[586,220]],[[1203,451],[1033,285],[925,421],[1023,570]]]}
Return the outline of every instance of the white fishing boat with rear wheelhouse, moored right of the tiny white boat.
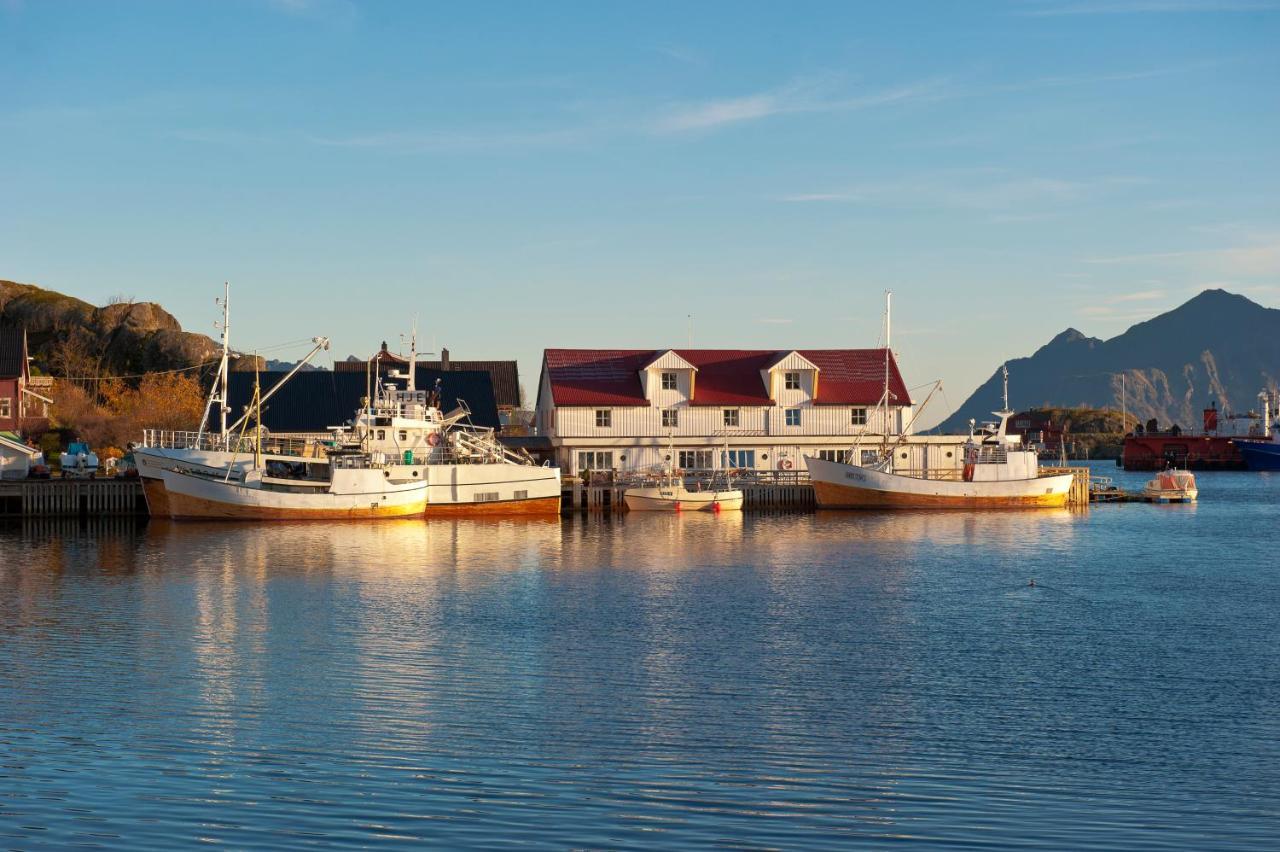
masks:
{"label": "white fishing boat with rear wheelhouse, moored right of the tiny white boat", "polygon": [[[954,476],[929,477],[897,473],[892,469],[892,448],[883,449],[874,463],[851,464],[860,458],[854,450],[845,461],[805,457],[817,504],[823,509],[1039,509],[1066,505],[1074,480],[1071,473],[1041,476],[1039,458],[1021,439],[1009,435],[1012,411],[1009,408],[1009,370],[1004,370],[1005,404],[992,412],[998,421],[975,434],[970,421],[964,445],[964,469]],[[887,400],[888,384],[886,381]],[[905,435],[905,430],[904,430]],[[902,439],[899,439],[901,443]]]}

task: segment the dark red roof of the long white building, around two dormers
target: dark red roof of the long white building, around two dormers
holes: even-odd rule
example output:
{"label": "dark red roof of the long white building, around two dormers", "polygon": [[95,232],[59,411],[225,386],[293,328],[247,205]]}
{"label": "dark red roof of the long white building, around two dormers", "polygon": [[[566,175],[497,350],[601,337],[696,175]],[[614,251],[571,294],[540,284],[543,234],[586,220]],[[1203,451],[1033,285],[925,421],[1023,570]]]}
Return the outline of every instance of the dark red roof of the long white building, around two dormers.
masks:
{"label": "dark red roof of the long white building, around two dormers", "polygon": [[[666,349],[547,349],[545,370],[557,406],[648,406],[640,371]],[[676,349],[698,367],[694,406],[768,406],[760,370],[776,363],[773,349]],[[790,349],[787,351],[790,352]],[[874,406],[884,389],[884,349],[797,349],[818,366],[819,406]],[[890,404],[910,404],[906,384],[890,357]]]}

